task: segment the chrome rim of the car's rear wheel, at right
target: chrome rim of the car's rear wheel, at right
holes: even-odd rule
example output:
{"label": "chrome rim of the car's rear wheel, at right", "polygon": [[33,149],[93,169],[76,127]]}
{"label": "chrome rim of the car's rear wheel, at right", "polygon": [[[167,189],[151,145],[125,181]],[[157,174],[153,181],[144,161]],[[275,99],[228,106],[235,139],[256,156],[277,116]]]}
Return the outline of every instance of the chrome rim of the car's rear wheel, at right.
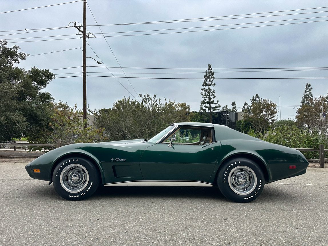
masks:
{"label": "chrome rim of the car's rear wheel, at right", "polygon": [[257,179],[254,171],[246,166],[238,166],[229,174],[229,186],[238,195],[248,195],[255,190]]}

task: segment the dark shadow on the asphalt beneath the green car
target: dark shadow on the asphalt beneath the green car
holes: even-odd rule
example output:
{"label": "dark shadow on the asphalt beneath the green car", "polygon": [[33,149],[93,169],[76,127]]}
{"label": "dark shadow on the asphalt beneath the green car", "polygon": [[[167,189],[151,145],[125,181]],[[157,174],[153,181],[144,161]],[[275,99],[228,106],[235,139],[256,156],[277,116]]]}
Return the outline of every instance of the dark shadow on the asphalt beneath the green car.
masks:
{"label": "dark shadow on the asphalt beneath the green car", "polygon": [[[23,192],[23,191],[22,191]],[[37,189],[26,186],[24,195],[47,200],[58,200],[60,196],[52,185],[38,185]],[[23,194],[22,194],[23,195]],[[263,192],[255,202],[272,204],[281,202],[295,202],[300,200],[302,193],[282,191],[277,186],[265,186]],[[99,187],[95,194],[88,200],[107,198],[192,198],[207,199],[234,203],[227,199],[217,187],[185,187],[185,186],[124,186],[124,187]],[[253,203],[253,202],[252,202]]]}

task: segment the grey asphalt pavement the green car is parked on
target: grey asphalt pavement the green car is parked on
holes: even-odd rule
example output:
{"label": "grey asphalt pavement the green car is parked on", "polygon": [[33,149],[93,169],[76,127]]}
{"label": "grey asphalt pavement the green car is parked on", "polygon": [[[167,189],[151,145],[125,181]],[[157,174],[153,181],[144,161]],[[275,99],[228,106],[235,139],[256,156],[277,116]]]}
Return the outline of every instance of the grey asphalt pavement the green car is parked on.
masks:
{"label": "grey asphalt pavement the green car is parked on", "polygon": [[266,184],[250,203],[208,187],[103,187],[59,197],[0,159],[0,245],[327,245],[328,169]]}

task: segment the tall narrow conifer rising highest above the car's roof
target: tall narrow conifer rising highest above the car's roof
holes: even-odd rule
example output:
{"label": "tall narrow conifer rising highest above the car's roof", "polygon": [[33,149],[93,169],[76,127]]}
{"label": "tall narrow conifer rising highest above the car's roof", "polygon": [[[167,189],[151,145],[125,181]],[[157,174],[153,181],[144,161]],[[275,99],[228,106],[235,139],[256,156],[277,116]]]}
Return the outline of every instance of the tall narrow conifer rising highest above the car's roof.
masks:
{"label": "tall narrow conifer rising highest above the car's roof", "polygon": [[204,82],[202,85],[202,92],[200,94],[203,97],[203,100],[200,102],[200,112],[210,112],[210,123],[212,123],[212,112],[220,109],[221,105],[219,100],[214,102],[215,99],[215,90],[213,89],[215,83],[214,71],[212,70],[211,64],[208,64],[208,68],[205,71]]}

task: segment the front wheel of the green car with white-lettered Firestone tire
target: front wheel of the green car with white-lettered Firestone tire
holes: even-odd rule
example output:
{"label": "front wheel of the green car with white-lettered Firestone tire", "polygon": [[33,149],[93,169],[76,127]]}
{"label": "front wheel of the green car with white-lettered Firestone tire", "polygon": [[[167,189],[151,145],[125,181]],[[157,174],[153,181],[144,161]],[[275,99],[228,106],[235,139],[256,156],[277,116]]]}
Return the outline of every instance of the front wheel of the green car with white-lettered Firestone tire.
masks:
{"label": "front wheel of the green car with white-lettered Firestone tire", "polygon": [[64,199],[84,200],[98,189],[98,169],[85,158],[64,159],[55,167],[52,182]]}

